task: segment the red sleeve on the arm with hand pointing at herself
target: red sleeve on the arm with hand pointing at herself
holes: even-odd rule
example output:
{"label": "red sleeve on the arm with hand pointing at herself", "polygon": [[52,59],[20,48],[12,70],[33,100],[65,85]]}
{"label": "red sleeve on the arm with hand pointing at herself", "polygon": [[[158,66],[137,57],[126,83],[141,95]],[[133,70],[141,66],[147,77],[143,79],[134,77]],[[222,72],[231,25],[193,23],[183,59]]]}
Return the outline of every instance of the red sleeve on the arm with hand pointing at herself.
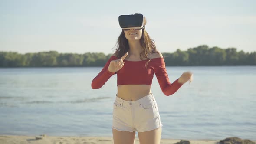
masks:
{"label": "red sleeve on the arm with hand pointing at herself", "polygon": [[101,72],[99,72],[98,75],[92,80],[92,89],[101,88],[108,81],[108,79],[115,74],[115,72],[108,71],[108,66],[110,62],[115,59],[117,59],[117,57],[115,56],[111,56],[108,59],[108,62],[102,68]]}

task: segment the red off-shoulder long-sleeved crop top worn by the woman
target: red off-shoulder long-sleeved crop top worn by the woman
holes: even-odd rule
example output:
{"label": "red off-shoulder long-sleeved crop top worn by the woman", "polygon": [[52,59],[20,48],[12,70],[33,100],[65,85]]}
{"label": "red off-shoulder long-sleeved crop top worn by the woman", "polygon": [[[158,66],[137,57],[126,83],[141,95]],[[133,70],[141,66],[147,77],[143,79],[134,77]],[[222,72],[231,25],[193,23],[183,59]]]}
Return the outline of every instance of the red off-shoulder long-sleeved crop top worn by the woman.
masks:
{"label": "red off-shoulder long-sleeved crop top worn by the woman", "polygon": [[[151,85],[155,73],[162,92],[167,96],[174,94],[182,86],[182,84],[178,83],[178,79],[172,84],[170,83],[165,69],[164,58],[153,58],[150,62],[148,60],[124,60],[125,65],[119,71],[109,72],[108,65],[115,59],[118,58],[111,56],[108,59],[102,71],[92,80],[92,89],[101,88],[114,74],[117,74],[117,85]],[[148,62],[147,67],[146,62]]]}

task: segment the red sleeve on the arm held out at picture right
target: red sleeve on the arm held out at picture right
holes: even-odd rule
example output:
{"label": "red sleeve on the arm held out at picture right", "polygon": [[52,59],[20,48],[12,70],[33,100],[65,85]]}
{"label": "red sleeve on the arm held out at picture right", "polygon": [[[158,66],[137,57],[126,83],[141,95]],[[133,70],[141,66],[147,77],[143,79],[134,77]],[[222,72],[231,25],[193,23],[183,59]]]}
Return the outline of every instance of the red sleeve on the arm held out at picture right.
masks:
{"label": "red sleeve on the arm held out at picture right", "polygon": [[154,59],[154,66],[153,66],[155,75],[158,79],[158,83],[164,95],[169,96],[177,92],[179,88],[181,88],[182,84],[178,83],[178,79],[175,80],[173,83],[170,82],[168,78],[168,74],[165,68],[164,59]]}

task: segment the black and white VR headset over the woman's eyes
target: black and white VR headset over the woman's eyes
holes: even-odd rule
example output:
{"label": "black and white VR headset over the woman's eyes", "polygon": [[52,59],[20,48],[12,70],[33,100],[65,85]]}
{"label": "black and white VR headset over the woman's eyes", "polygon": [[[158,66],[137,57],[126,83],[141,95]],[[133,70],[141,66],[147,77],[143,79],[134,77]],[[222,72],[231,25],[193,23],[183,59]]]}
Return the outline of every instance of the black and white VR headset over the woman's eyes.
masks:
{"label": "black and white VR headset over the woman's eyes", "polygon": [[143,29],[144,16],[142,14],[121,15],[118,17],[119,25],[123,30]]}

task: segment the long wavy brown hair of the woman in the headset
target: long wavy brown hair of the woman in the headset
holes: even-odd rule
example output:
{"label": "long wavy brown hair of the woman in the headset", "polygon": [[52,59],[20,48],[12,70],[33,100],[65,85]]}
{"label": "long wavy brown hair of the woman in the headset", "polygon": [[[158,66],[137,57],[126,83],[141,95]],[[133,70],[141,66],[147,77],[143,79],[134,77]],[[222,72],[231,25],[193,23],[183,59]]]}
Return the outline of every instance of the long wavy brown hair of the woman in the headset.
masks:
{"label": "long wavy brown hair of the woman in the headset", "polygon": [[[137,13],[135,13],[135,14],[137,14]],[[142,29],[142,36],[140,39],[140,44],[142,46],[143,51],[140,53],[140,59],[143,60],[142,57],[144,57],[149,60],[148,62],[150,62],[148,55],[151,55],[152,53],[155,53],[158,51],[156,51],[155,41],[149,37],[147,31],[145,30],[145,25],[147,24],[145,17],[144,17],[143,24],[144,24],[144,28]],[[129,45],[128,45],[128,40],[125,38],[125,32],[123,30],[122,30],[121,34],[119,35],[115,46],[117,48],[115,49],[114,55],[117,56],[118,59],[120,59],[122,56],[124,56],[125,53],[128,52],[128,50],[130,49]]]}

